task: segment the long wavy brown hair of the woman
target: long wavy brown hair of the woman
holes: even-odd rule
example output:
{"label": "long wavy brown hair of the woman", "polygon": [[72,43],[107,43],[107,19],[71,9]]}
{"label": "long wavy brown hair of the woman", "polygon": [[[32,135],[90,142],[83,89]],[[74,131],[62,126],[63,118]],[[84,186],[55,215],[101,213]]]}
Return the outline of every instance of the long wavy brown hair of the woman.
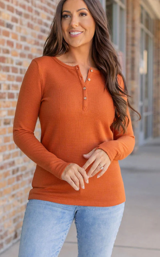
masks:
{"label": "long wavy brown hair of the woman", "polygon": [[[54,18],[50,26],[50,32],[44,44],[43,56],[61,56],[69,51],[68,44],[63,38],[61,19],[62,7],[67,0],[60,0]],[[122,68],[118,59],[113,42],[110,39],[109,23],[106,13],[99,0],[83,0],[86,3],[91,15],[93,16],[96,25],[95,33],[92,42],[92,57],[96,67],[101,71],[104,79],[105,88],[112,96],[115,107],[115,119],[111,124],[114,130],[118,130],[120,134],[120,127],[122,127],[123,134],[126,133],[126,128],[129,124],[129,117],[126,113],[127,105],[134,111],[141,119],[138,113],[129,103],[125,78],[122,74]],[[122,76],[124,82],[124,90],[119,86],[117,75]],[[127,102],[122,96],[127,96]],[[126,124],[127,117],[127,124]]]}

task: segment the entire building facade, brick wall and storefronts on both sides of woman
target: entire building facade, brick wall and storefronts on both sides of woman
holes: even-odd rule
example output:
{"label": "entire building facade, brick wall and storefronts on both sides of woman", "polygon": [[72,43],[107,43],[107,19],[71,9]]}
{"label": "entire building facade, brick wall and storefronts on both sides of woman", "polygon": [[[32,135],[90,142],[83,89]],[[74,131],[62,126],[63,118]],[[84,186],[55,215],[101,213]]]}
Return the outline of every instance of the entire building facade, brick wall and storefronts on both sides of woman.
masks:
{"label": "entire building facade, brick wall and storefronts on both sides of woman", "polygon": [[[0,253],[19,240],[36,164],[13,141],[20,86],[32,59],[42,49],[57,0],[0,1]],[[160,2],[101,0],[110,36],[119,53],[139,145],[160,136]],[[40,141],[37,121],[34,135]]]}

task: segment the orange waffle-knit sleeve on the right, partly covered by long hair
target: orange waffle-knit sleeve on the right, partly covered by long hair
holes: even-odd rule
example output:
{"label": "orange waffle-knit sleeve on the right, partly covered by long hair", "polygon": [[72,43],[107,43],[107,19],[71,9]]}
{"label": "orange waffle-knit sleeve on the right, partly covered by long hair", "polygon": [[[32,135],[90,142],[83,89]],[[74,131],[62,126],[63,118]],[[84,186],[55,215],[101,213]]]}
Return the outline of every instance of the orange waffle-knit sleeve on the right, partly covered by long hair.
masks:
{"label": "orange waffle-knit sleeve on the right, partly covered by long hair", "polygon": [[[124,89],[124,82],[121,77],[120,84],[121,88]],[[123,96],[123,98],[127,101],[127,97]],[[122,160],[126,158],[134,149],[135,145],[135,136],[133,134],[133,129],[132,129],[132,123],[131,123],[131,117],[129,113],[129,108],[127,105],[127,115],[129,117],[129,125],[127,127],[127,131],[125,134],[122,132],[118,135],[118,131],[114,130],[111,127],[111,130],[113,132],[113,140],[103,142],[99,144],[95,150],[97,149],[102,149],[104,150],[111,162],[114,160]],[[127,118],[126,118],[127,121]],[[123,134],[123,135],[122,135]]]}

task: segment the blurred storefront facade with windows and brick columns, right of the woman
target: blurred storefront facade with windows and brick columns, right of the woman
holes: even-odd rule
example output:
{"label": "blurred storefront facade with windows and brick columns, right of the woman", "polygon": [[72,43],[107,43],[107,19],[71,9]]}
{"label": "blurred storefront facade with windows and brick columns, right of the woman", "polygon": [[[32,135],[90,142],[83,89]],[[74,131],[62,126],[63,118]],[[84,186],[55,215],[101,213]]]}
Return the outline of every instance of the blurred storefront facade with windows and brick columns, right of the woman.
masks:
{"label": "blurred storefront facade with windows and brick columns, right of the woman", "polygon": [[118,50],[122,72],[131,95],[131,112],[138,147],[160,136],[159,0],[101,0],[111,39]]}

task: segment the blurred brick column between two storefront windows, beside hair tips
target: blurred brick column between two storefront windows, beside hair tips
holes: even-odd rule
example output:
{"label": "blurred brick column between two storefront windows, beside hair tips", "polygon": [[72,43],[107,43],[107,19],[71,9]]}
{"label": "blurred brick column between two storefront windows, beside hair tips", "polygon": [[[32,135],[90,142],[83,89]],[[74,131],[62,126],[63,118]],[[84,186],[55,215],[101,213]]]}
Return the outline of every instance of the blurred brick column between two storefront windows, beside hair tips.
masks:
{"label": "blurred brick column between two storefront windows, beside hair tips", "polygon": [[[140,60],[140,0],[126,0],[126,84],[130,103],[139,111],[139,60]],[[133,154],[138,150],[139,123],[137,115],[130,111],[135,135]]]}

